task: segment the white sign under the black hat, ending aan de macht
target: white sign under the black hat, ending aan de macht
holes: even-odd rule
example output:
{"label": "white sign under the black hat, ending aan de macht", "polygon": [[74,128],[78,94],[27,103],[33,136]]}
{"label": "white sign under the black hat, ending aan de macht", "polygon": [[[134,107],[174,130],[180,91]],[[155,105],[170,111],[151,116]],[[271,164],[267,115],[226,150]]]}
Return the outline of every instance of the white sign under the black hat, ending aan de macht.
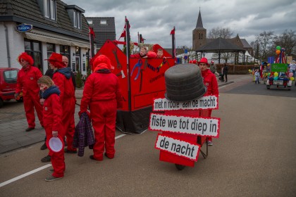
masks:
{"label": "white sign under the black hat, ending aan de macht", "polygon": [[186,102],[169,101],[166,98],[154,98],[153,103],[153,111],[206,109],[218,109],[217,96],[203,96],[201,98]]}

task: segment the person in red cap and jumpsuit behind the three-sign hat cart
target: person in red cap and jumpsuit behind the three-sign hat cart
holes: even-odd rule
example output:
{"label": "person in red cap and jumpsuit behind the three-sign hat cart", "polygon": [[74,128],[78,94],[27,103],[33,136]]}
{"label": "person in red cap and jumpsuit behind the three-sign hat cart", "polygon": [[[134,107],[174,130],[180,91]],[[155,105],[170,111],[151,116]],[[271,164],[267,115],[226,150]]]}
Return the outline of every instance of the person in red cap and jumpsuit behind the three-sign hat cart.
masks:
{"label": "person in red cap and jumpsuit behind the three-sign hat cart", "polygon": [[[216,76],[208,69],[209,63],[206,58],[202,58],[198,63],[200,71],[202,72],[202,77],[204,78],[204,85],[206,86],[206,93],[204,96],[217,96],[218,98],[218,82]],[[209,117],[211,117],[211,110],[209,110]],[[212,146],[213,141],[212,138],[208,138],[208,145]]]}

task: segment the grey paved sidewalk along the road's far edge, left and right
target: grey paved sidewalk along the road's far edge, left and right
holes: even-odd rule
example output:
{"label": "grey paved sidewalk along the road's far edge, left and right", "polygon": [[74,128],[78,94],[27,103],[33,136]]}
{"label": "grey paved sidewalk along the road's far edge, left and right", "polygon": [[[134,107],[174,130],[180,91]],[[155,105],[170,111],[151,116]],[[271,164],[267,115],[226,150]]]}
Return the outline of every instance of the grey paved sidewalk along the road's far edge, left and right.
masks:
{"label": "grey paved sidewalk along the road's far edge, left and right", "polygon": [[[228,75],[228,79],[229,79],[228,82],[221,82],[220,80],[218,80],[218,86],[222,87],[222,86],[225,86],[226,84],[239,82],[240,80],[245,79],[246,77],[250,77],[250,76],[249,75]],[[81,101],[82,91],[83,89],[76,89],[75,91],[77,103],[80,103]],[[20,110],[23,110],[23,106]],[[79,117],[78,117],[79,110],[80,110],[80,106],[76,105],[75,107],[76,123],[78,123],[79,121]],[[23,111],[23,114],[25,114],[24,111]],[[19,120],[1,122],[0,123],[0,154],[44,141],[45,132],[44,132],[44,129],[39,124],[37,116],[36,116],[35,122],[36,122],[36,127],[31,132],[25,132],[25,129],[27,128],[27,120],[25,118],[21,118]]]}

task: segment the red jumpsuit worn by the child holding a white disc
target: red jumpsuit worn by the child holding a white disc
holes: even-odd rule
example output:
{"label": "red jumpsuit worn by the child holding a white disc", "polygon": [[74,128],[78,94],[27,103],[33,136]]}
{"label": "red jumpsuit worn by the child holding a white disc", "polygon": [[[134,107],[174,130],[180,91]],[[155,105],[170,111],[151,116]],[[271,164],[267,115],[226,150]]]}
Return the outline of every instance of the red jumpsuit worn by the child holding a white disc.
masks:
{"label": "red jumpsuit worn by the child holding a white disc", "polygon": [[[43,121],[44,129],[47,134],[47,143],[51,139],[52,131],[57,131],[58,135],[63,139],[65,136],[65,130],[63,128],[62,122],[62,108],[60,98],[57,94],[51,94],[45,99],[43,104]],[[63,177],[63,172],[65,171],[65,158],[63,150],[58,153],[50,151],[51,164],[54,167],[54,177]]]}

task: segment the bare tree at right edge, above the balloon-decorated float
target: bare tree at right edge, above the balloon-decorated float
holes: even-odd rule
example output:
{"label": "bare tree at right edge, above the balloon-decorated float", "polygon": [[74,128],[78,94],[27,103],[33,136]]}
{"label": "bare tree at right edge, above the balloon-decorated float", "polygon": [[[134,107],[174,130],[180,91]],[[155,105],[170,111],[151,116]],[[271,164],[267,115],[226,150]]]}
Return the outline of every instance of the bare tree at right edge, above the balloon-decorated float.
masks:
{"label": "bare tree at right edge, above the balloon-decorated float", "polygon": [[[292,49],[296,46],[296,34],[295,31],[285,30],[283,34],[276,35],[273,39],[273,49],[276,46],[280,46],[285,49],[285,53],[289,56],[292,53]],[[271,51],[274,51],[271,49]]]}

